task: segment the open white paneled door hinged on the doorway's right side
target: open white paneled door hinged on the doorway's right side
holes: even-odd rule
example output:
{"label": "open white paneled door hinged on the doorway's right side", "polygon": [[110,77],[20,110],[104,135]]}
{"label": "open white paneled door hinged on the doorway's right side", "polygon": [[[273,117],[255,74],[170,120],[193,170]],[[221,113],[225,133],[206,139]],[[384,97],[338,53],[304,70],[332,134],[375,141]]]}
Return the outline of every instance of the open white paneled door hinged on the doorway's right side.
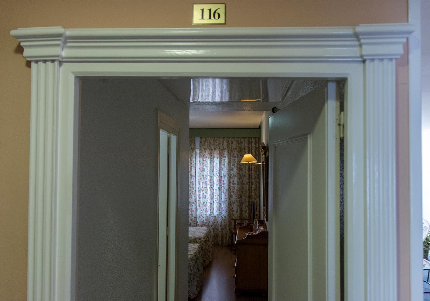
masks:
{"label": "open white paneled door hinged on the doorway's right side", "polygon": [[269,300],[339,300],[337,87],[269,118]]}

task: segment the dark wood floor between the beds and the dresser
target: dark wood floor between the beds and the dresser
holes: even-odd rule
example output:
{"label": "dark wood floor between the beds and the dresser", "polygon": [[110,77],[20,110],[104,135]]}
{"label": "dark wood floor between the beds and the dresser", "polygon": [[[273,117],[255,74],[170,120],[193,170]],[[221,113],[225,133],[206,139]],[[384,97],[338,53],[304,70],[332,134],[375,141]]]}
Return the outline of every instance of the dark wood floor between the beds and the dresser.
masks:
{"label": "dark wood floor between the beds and the dresser", "polygon": [[203,285],[192,301],[267,301],[260,293],[234,295],[234,261],[230,248],[214,245],[214,260],[203,270]]}

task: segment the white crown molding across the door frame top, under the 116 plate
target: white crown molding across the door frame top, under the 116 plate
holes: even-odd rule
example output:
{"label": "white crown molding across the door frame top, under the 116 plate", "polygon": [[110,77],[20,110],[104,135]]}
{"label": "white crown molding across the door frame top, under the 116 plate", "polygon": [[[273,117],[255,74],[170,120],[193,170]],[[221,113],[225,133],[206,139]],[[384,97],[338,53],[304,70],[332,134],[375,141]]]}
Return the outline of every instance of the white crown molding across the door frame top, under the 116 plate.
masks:
{"label": "white crown molding across the door frame top, under the 116 plate", "polygon": [[30,61],[363,61],[399,57],[413,28],[408,23],[316,28],[40,27],[18,28],[11,34]]}

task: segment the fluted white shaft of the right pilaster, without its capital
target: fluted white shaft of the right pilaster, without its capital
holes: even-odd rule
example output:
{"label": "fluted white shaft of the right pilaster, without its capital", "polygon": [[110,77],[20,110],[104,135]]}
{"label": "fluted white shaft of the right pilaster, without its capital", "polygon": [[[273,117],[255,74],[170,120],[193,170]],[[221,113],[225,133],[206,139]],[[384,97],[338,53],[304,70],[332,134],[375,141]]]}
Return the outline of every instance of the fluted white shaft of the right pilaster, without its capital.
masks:
{"label": "fluted white shaft of the right pilaster, without its capital", "polygon": [[366,300],[397,300],[395,60],[367,59],[364,68]]}

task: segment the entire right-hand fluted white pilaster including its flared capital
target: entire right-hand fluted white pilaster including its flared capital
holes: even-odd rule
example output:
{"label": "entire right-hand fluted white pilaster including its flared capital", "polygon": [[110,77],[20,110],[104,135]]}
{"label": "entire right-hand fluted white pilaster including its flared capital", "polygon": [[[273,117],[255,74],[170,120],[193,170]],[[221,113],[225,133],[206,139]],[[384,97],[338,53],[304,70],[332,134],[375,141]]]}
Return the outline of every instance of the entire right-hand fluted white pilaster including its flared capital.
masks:
{"label": "entire right-hand fluted white pilaster including its flared capital", "polygon": [[[366,300],[397,300],[396,66],[412,25],[360,25],[364,62]],[[389,254],[389,255],[388,255]]]}

